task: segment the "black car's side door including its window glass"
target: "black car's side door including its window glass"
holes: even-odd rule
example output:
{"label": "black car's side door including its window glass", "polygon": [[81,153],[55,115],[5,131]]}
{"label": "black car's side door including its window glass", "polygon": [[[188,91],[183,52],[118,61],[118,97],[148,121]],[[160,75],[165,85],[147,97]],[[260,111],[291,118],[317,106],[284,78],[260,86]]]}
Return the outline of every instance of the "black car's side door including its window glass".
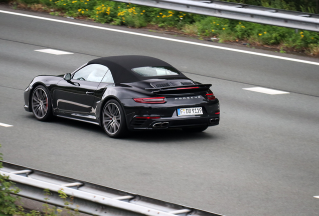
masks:
{"label": "black car's side door including its window glass", "polygon": [[53,91],[56,111],[89,114],[97,87],[107,70],[104,65],[89,64],[74,72],[71,80],[59,81]]}

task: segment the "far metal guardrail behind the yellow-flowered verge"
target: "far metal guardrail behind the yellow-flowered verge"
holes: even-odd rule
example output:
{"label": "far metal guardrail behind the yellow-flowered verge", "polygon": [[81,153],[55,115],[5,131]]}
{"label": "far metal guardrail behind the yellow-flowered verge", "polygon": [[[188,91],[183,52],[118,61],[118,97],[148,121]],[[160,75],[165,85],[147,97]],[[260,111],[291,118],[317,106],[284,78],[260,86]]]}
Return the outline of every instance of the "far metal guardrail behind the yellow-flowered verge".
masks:
{"label": "far metal guardrail behind the yellow-flowered verge", "polygon": [[319,15],[219,0],[113,0],[261,24],[319,31]]}

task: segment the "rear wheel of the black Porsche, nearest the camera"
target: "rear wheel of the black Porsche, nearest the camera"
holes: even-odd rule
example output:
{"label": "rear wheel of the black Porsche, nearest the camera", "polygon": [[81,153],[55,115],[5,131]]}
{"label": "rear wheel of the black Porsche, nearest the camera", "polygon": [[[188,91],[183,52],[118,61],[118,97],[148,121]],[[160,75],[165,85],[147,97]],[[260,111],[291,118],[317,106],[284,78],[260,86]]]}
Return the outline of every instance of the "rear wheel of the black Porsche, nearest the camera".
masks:
{"label": "rear wheel of the black Porsche, nearest the camera", "polygon": [[108,136],[119,138],[127,135],[124,110],[118,101],[111,99],[105,103],[101,120],[102,127]]}

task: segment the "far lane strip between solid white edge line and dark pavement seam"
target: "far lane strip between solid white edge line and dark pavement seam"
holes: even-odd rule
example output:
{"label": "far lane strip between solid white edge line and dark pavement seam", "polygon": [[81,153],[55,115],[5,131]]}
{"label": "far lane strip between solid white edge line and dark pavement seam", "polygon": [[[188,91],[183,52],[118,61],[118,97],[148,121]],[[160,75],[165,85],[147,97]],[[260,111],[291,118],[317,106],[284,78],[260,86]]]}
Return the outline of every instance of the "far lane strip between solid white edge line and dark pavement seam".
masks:
{"label": "far lane strip between solid white edge line and dark pavement seam", "polygon": [[[316,84],[319,81],[317,65],[300,64],[281,59],[264,60],[263,56],[236,52],[232,52],[230,55],[227,50],[214,50],[210,47],[186,45],[175,41],[163,42],[156,38],[74,26],[13,14],[2,13],[1,17],[2,20],[5,20],[2,23],[1,39],[44,47],[53,46],[56,49],[98,56],[119,55],[128,52],[129,54],[151,55],[169,62],[170,56],[175,56],[174,64],[176,66],[184,66],[184,68],[186,66],[188,71],[197,74],[319,96],[319,86]],[[64,18],[63,20],[70,21],[72,19]],[[83,21],[77,22],[82,23]],[[84,23],[88,24],[88,22]],[[96,25],[100,26],[101,24]],[[11,32],[15,32],[15,34]],[[198,40],[195,41],[198,42]],[[214,44],[212,42],[206,43]],[[196,50],[196,55],[192,54],[194,50]],[[275,54],[274,52],[266,53]],[[293,55],[287,54],[285,56],[293,57]],[[311,59],[311,61],[318,62],[317,59]]]}

